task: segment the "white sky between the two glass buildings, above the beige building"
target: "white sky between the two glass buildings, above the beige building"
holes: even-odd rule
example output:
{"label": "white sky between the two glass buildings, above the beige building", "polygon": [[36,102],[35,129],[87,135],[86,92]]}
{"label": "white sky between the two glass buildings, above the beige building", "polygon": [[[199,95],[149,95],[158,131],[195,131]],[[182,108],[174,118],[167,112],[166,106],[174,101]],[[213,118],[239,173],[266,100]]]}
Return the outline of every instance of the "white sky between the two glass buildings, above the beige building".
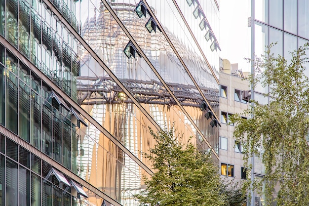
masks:
{"label": "white sky between the two glass buildings, above the beige building", "polygon": [[250,64],[244,58],[250,58],[250,0],[220,0],[220,57],[231,64],[238,63],[238,69],[250,72]]}

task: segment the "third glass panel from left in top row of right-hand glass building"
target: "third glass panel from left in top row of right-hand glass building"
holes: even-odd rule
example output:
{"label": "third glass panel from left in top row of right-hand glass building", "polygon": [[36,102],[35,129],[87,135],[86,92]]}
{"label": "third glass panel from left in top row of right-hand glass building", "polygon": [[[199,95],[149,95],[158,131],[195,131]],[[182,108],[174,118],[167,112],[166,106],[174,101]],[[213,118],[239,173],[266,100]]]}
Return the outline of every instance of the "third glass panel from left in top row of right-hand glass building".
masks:
{"label": "third glass panel from left in top row of right-hand glass building", "polygon": [[284,30],[297,34],[296,0],[284,0]]}

